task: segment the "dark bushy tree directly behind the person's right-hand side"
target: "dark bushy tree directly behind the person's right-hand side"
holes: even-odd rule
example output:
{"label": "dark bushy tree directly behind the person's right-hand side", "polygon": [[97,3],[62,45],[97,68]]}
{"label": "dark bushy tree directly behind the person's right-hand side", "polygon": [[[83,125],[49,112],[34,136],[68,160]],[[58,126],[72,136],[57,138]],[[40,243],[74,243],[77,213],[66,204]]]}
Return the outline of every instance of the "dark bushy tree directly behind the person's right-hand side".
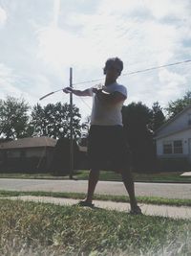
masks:
{"label": "dark bushy tree directly behind the person's right-hand side", "polygon": [[132,103],[123,106],[122,117],[134,170],[151,171],[155,158],[153,132],[148,128],[152,123],[152,110],[141,102]]}

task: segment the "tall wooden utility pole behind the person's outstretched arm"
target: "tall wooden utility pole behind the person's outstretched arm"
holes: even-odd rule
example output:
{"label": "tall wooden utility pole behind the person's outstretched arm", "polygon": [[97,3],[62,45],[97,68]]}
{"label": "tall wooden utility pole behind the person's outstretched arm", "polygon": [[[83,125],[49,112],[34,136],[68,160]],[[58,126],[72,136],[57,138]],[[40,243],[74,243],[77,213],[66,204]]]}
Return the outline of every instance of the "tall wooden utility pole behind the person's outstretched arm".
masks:
{"label": "tall wooden utility pole behind the person's outstretched arm", "polygon": [[[70,87],[73,87],[73,68],[70,67]],[[70,93],[70,179],[74,172],[74,147],[73,147],[73,93]]]}

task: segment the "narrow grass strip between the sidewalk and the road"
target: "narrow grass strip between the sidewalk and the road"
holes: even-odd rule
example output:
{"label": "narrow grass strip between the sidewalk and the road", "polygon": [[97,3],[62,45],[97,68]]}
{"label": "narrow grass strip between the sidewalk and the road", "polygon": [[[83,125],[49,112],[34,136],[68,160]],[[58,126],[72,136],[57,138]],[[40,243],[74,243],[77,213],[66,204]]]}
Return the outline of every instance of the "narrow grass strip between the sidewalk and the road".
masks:
{"label": "narrow grass strip between the sidewalk and the road", "polygon": [[[84,193],[64,193],[64,192],[44,192],[44,191],[5,191],[0,190],[0,198],[18,197],[18,196],[36,196],[36,197],[53,197],[53,198],[74,198],[83,199]],[[125,196],[95,195],[97,200],[111,200],[117,202],[129,202]],[[157,205],[174,205],[174,206],[191,206],[191,199],[172,199],[172,198],[154,198],[154,197],[137,197],[138,203],[148,203]]]}

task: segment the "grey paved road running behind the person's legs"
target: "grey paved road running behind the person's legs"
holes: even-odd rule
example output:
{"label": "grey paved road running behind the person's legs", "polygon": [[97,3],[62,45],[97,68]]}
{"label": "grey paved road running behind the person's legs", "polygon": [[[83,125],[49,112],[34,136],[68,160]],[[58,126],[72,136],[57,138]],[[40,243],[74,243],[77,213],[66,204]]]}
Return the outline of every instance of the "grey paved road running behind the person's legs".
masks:
{"label": "grey paved road running behind the person's legs", "polygon": [[[138,182],[135,186],[137,196],[191,199],[191,184]],[[0,178],[0,190],[86,193],[87,181]],[[122,182],[99,181],[96,194],[126,195],[126,191]]]}

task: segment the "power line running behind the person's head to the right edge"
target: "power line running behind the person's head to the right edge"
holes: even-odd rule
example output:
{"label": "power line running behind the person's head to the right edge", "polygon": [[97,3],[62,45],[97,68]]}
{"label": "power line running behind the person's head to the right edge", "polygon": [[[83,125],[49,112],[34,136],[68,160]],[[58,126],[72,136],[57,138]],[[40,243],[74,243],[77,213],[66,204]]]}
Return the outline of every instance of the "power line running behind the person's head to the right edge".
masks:
{"label": "power line running behind the person's head to the right edge", "polygon": [[[150,67],[150,68],[146,68],[146,69],[141,69],[141,70],[137,70],[137,71],[133,71],[133,72],[129,72],[129,73],[122,74],[122,76],[134,75],[134,74],[138,74],[138,73],[143,73],[143,72],[147,72],[147,71],[156,70],[156,69],[159,69],[159,68],[164,68],[164,67],[169,67],[169,66],[180,65],[180,64],[188,63],[188,62],[191,62],[191,59],[186,59],[186,60],[183,60],[183,61],[178,61],[178,62],[174,62],[174,63],[170,63],[170,64],[165,64],[165,65]],[[82,84],[82,83],[89,83],[89,82],[93,82],[93,81],[101,81],[101,80],[103,80],[103,78],[101,78],[101,79],[96,79],[96,80],[91,80],[91,81],[75,82],[75,83],[73,83],[73,85],[78,85],[78,84]]]}

